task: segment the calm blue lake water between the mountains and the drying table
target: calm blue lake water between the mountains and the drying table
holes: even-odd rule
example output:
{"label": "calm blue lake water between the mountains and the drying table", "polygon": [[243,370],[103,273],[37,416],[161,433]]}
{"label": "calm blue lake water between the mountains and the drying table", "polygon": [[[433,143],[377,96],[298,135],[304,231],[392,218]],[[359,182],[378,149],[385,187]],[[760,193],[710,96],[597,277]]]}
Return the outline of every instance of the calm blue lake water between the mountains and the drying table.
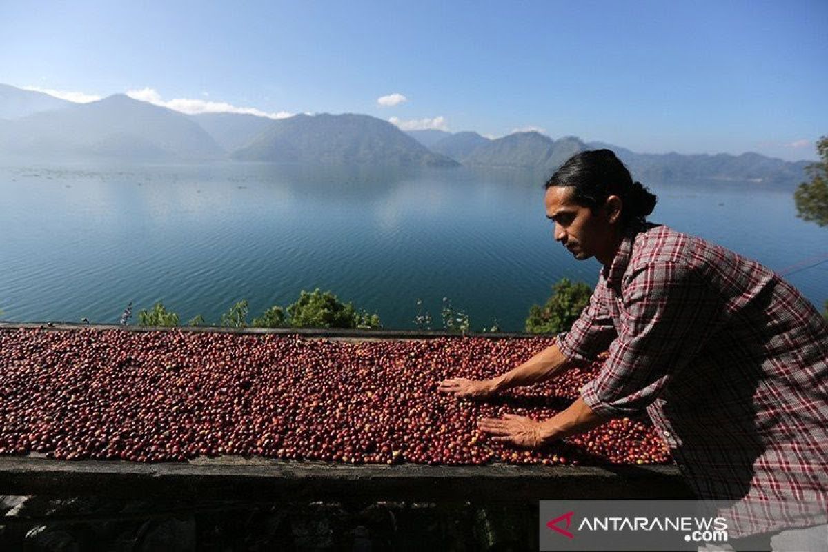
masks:
{"label": "calm blue lake water between the mountains and the drying table", "polygon": [[[0,167],[0,318],[115,323],[161,300],[182,322],[251,318],[302,289],[334,290],[413,328],[449,297],[472,329],[521,330],[562,277],[595,285],[551,238],[543,175],[474,170],[211,166]],[[651,219],[777,271],[819,308],[828,229],[796,218],[792,190],[646,183]],[[798,270],[797,269],[803,269]]]}

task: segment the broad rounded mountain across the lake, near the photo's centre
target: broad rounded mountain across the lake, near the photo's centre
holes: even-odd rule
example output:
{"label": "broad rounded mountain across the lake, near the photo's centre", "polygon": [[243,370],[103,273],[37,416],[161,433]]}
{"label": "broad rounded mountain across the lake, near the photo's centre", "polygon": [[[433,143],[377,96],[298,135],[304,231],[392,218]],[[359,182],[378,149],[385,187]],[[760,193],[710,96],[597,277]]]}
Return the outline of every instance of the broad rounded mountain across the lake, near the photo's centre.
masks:
{"label": "broad rounded mountain across the lake, near the photo's centre", "polygon": [[295,115],[273,121],[253,143],[233,153],[243,161],[357,163],[377,166],[457,166],[390,122],[346,113]]}

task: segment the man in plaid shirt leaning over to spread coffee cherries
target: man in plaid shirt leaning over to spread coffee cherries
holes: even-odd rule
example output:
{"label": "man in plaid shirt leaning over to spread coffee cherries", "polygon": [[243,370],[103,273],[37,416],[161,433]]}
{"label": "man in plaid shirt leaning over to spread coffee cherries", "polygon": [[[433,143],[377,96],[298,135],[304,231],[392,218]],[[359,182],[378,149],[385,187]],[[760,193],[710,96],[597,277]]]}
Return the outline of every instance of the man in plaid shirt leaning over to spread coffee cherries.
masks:
{"label": "man in plaid shirt leaning over to spread coffee cherries", "polygon": [[[440,391],[486,397],[609,350],[595,380],[558,415],[507,415],[480,428],[536,448],[646,409],[696,495],[733,504],[729,515],[739,523],[731,536],[770,539],[797,527],[802,542],[828,546],[821,314],[757,262],[647,224],[656,197],[612,151],[566,161],[546,183],[545,204],[556,241],[603,265],[590,305],[570,332],[512,371],[483,382],[449,379]],[[782,506],[768,511],[768,502]]]}

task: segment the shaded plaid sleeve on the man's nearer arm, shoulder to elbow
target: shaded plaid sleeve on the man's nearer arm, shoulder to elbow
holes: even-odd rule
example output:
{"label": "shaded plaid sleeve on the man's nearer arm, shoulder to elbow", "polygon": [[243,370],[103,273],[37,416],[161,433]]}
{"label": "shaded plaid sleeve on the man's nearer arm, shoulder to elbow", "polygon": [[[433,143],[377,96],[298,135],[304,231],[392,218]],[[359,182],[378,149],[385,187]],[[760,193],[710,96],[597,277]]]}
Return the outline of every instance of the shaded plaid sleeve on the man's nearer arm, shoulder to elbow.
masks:
{"label": "shaded plaid sleeve on the man's nearer arm, shoulder to elbow", "polygon": [[643,410],[704,346],[715,294],[686,266],[654,262],[623,288],[619,334],[598,376],[581,388],[595,414],[618,418]]}

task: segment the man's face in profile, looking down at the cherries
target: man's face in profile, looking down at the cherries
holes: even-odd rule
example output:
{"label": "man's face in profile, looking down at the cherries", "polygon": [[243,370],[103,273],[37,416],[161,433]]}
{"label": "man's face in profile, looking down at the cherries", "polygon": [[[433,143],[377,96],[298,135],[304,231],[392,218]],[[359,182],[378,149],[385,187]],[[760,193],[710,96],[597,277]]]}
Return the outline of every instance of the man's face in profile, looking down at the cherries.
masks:
{"label": "man's face in profile, looking down at the cherries", "polygon": [[546,190],[546,218],[555,223],[555,241],[561,242],[579,261],[598,257],[604,262],[614,237],[606,209],[596,209],[593,214],[589,207],[572,201],[572,194],[569,187],[551,186]]}

